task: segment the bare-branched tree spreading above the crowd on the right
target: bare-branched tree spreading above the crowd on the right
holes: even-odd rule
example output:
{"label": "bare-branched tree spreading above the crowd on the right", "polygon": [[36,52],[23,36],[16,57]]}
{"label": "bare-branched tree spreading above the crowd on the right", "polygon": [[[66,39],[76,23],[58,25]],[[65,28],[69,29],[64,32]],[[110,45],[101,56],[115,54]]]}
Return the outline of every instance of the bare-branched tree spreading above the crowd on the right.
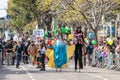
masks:
{"label": "bare-branched tree spreading above the crowd on the right", "polygon": [[[79,12],[95,34],[98,42],[98,26],[104,14],[112,10],[119,0],[61,0],[64,6]],[[67,7],[68,8],[68,7]],[[69,9],[70,9],[69,8]]]}

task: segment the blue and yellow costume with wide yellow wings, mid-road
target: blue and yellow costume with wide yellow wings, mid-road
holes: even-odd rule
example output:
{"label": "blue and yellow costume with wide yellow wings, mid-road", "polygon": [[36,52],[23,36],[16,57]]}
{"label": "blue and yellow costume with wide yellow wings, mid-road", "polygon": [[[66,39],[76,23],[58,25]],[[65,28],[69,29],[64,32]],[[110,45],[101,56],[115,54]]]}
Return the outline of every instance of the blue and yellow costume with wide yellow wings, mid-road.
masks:
{"label": "blue and yellow costume with wide yellow wings, mid-road", "polygon": [[46,56],[49,58],[48,66],[52,68],[66,68],[68,59],[73,55],[75,45],[66,46],[62,40],[57,40],[52,49],[48,48]]}

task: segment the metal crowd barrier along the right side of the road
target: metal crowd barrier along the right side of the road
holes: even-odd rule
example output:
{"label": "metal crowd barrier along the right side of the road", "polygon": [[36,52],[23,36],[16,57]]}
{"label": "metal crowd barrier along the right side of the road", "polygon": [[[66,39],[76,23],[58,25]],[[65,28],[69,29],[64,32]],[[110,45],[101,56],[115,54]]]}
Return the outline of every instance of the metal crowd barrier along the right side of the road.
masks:
{"label": "metal crowd barrier along the right side of the road", "polygon": [[105,68],[120,71],[120,53],[110,52],[107,56],[102,57],[101,53],[96,53],[96,66],[98,68]]}

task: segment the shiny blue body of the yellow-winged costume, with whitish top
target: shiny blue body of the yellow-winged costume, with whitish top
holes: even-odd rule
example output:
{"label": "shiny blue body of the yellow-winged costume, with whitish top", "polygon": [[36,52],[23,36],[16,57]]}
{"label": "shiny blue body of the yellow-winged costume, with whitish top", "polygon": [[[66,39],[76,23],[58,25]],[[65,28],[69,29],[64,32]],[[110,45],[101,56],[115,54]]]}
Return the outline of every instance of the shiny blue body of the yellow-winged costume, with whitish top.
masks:
{"label": "shiny blue body of the yellow-winged costume, with whitish top", "polygon": [[67,63],[66,44],[62,40],[57,40],[54,44],[54,63],[56,68]]}

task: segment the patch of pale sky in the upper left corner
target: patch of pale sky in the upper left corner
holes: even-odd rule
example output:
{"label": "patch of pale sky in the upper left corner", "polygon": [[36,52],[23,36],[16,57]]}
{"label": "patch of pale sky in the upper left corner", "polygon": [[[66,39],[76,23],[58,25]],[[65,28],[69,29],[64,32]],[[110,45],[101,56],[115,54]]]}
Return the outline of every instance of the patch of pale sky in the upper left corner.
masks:
{"label": "patch of pale sky in the upper left corner", "polygon": [[0,0],[0,18],[5,17],[7,15],[6,8],[7,8],[8,0]]}

